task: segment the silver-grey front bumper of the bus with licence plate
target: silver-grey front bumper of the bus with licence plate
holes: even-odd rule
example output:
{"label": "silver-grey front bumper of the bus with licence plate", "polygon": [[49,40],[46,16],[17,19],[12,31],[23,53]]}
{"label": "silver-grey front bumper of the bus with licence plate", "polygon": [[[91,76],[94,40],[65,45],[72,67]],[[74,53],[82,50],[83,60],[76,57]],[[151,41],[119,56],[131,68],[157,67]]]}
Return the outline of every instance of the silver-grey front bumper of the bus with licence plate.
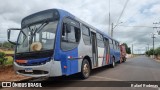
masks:
{"label": "silver-grey front bumper of the bus with licence plate", "polygon": [[29,77],[53,77],[62,75],[60,61],[53,60],[36,66],[21,66],[14,62],[14,70],[17,74]]}

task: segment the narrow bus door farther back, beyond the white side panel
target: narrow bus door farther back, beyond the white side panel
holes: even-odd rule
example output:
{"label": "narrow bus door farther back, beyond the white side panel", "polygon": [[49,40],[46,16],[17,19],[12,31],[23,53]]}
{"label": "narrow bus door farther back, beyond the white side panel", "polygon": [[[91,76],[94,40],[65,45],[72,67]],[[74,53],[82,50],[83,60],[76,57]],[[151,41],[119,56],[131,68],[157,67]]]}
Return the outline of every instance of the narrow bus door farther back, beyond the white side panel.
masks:
{"label": "narrow bus door farther back, beyond the white side panel", "polygon": [[106,50],[106,64],[109,64],[110,48],[109,48],[109,40],[107,38],[104,38],[104,45]]}

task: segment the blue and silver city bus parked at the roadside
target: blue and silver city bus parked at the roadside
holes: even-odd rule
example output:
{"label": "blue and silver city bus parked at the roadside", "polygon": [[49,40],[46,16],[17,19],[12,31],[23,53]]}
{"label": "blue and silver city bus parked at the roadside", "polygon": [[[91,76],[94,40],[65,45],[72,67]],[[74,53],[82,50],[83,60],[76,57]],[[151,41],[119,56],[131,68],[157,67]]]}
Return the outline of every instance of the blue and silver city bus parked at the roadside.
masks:
{"label": "blue and silver city bus parked at the roadside", "polygon": [[[11,40],[19,31],[16,41]],[[88,78],[91,70],[120,62],[119,42],[61,9],[48,9],[22,19],[7,30],[15,45],[14,70],[31,77]],[[15,38],[15,37],[14,37]]]}

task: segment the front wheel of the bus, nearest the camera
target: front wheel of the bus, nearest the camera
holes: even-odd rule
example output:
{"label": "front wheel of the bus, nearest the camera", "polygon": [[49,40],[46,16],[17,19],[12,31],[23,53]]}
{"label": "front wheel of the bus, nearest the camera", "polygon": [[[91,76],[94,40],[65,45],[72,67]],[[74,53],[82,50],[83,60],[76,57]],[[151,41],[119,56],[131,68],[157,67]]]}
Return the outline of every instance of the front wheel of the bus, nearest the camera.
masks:
{"label": "front wheel of the bus, nearest the camera", "polygon": [[91,72],[90,64],[87,59],[84,59],[81,67],[81,77],[83,79],[88,78],[90,75],[90,72]]}

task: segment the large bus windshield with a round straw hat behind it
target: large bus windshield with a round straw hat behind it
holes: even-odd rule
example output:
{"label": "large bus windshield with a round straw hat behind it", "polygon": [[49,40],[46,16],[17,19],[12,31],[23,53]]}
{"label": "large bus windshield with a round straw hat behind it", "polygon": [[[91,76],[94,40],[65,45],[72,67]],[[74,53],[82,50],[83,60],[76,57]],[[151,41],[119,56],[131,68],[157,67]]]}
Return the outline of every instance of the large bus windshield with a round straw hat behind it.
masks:
{"label": "large bus windshield with a round straw hat behind it", "polygon": [[[52,50],[58,21],[43,22],[22,28],[17,53]],[[36,44],[35,44],[36,43]],[[34,50],[33,48],[39,48]]]}

